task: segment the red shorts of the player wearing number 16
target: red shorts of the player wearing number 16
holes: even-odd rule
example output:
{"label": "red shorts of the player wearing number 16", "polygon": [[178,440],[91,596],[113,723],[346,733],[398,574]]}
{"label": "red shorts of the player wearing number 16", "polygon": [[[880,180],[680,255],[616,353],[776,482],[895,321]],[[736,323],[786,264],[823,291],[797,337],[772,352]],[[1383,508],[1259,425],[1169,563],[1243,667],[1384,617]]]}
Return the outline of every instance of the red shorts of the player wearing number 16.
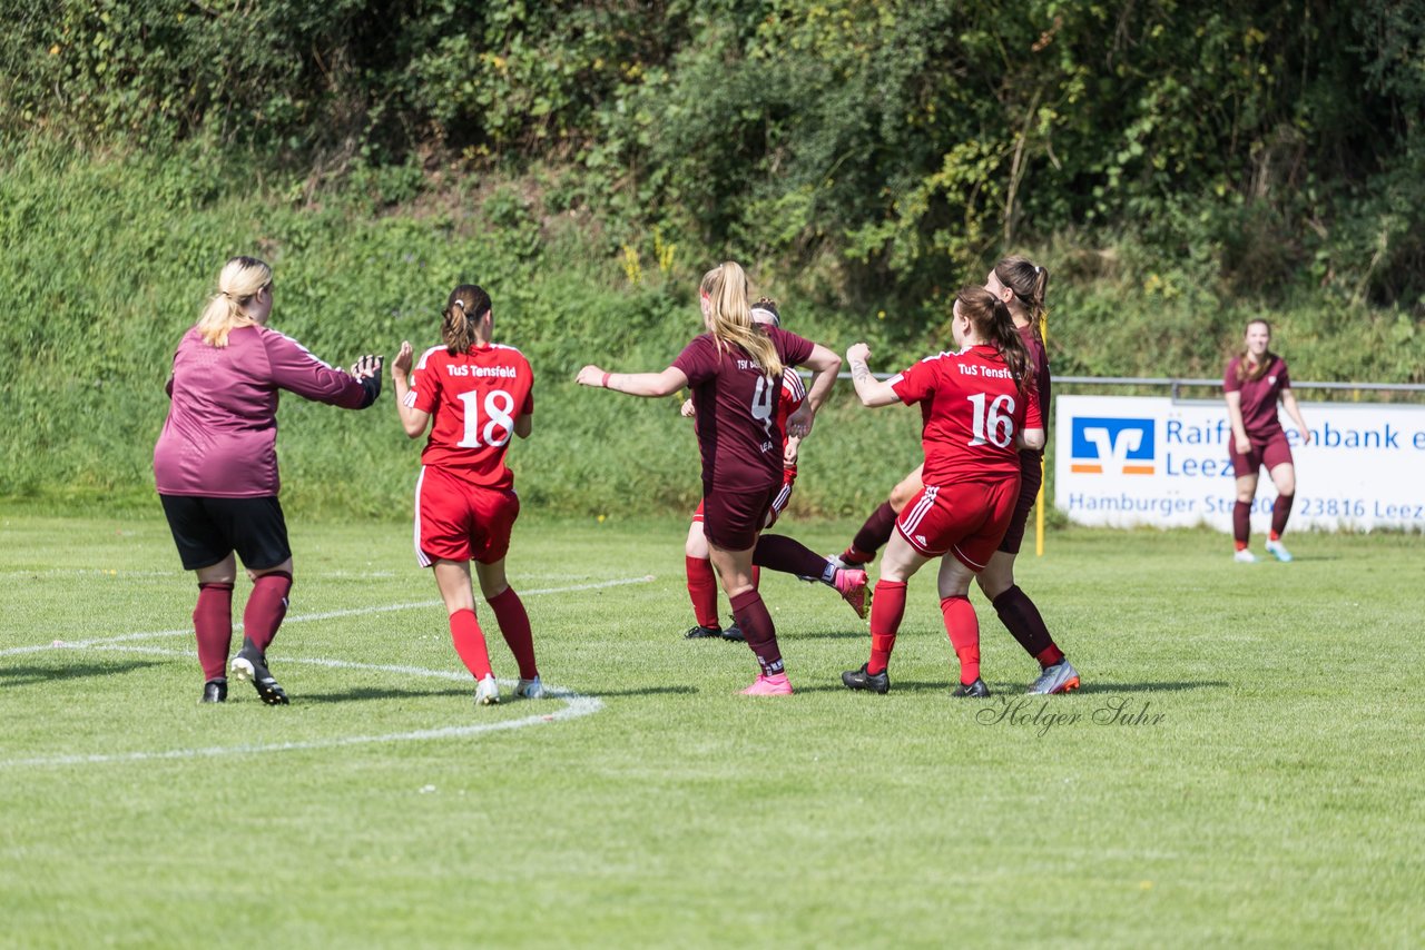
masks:
{"label": "red shorts of the player wearing number 16", "polygon": [[979,573],[1005,537],[1017,500],[1019,476],[1002,481],[928,484],[905,506],[895,527],[925,557],[950,553]]}

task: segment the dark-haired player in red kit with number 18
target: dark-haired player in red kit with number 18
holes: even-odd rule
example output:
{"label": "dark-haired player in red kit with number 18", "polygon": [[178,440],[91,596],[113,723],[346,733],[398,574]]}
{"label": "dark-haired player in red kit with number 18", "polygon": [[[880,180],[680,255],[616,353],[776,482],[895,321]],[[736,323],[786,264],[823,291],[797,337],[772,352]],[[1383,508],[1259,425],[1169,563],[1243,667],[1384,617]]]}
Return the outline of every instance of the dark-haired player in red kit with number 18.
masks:
{"label": "dark-haired player in red kit with number 18", "polygon": [[534,373],[517,349],[493,343],[493,332],[490,295],[462,283],[450,292],[442,315],[445,343],[422,353],[412,373],[413,350],[402,342],[390,365],[406,434],[418,439],[430,426],[416,480],[416,563],[435,573],[450,617],[450,640],[476,679],[479,705],[499,702],[500,688],[475,614],[472,560],[484,602],[520,669],[514,695],[544,695],[529,615],[504,577],[510,528],[520,514],[504,453],[513,436],[529,439]]}

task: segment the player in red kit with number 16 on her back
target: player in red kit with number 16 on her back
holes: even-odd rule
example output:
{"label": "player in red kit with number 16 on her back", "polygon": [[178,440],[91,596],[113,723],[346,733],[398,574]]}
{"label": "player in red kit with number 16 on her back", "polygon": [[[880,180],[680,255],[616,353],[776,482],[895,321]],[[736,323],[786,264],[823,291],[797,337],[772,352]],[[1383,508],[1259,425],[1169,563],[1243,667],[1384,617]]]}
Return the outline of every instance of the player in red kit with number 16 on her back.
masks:
{"label": "player in red kit with number 16 on her back", "polygon": [[846,352],[864,406],[919,403],[925,487],[896,520],[871,607],[871,659],[842,674],[851,689],[886,692],[886,667],[905,614],[911,577],[940,558],[940,612],[960,661],[956,696],[988,696],[979,675],[979,621],[970,578],[985,570],[1015,514],[1019,450],[1045,444],[1033,362],[1009,308],[979,286],[955,299],[950,332],[959,352],[929,356],[885,382],[866,367],[865,343]]}

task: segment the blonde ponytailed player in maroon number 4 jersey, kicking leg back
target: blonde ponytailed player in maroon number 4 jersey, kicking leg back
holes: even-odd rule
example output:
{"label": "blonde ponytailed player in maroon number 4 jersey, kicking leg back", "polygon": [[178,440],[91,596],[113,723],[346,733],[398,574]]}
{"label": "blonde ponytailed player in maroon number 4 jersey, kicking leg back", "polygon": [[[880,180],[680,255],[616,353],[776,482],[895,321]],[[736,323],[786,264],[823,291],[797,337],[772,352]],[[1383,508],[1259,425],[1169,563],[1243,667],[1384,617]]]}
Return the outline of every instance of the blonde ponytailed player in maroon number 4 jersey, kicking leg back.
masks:
{"label": "blonde ponytailed player in maroon number 4 jersey, kicking leg back", "polygon": [[836,571],[792,538],[760,538],[782,490],[782,433],[777,424],[782,372],[799,365],[812,370],[807,400],[787,420],[787,432],[804,439],[831,392],[841,357],[795,333],[754,325],[747,275],[731,261],[704,275],[700,298],[708,332],[694,338],[668,369],[607,373],[598,366],[584,366],[577,382],[633,396],[670,396],[684,386],[693,389],[703,456],[703,528],[712,565],[732,604],[732,618],[761,669],[742,692],[784,696],[792,687],[772,615],[752,583],[754,554],[762,567],[788,573],[798,573],[797,563],[809,560],[817,575],[834,585],[852,608],[865,610],[865,571]]}

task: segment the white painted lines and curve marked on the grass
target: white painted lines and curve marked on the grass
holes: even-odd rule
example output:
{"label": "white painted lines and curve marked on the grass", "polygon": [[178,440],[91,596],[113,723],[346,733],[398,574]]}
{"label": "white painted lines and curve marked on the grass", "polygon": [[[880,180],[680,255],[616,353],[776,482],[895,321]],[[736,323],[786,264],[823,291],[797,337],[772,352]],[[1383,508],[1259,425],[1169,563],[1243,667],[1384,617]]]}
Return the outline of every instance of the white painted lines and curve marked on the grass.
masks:
{"label": "white painted lines and curve marked on the grass", "polygon": [[[607,587],[621,587],[626,584],[647,584],[653,575],[624,578],[616,581],[600,581],[594,584],[573,584],[567,587],[547,587],[536,588],[529,591],[522,591],[522,597],[539,595],[539,594],[564,594],[571,591],[586,591],[586,590],[601,590]],[[329,611],[323,614],[306,614],[304,617],[291,617],[285,622],[301,622],[311,620],[333,620],[339,617],[358,617],[362,614],[379,614],[398,610],[410,610],[415,607],[432,607],[440,604],[440,601],[422,601],[416,604],[388,604],[382,607],[362,607],[346,611]],[[238,627],[235,627],[237,630]],[[150,654],[162,657],[191,657],[192,652],[181,649],[164,649],[162,647],[128,647],[123,645],[134,640],[152,640],[157,637],[188,637],[191,630],[178,631],[152,631],[152,632],[138,632],[138,634],[120,634],[117,637],[105,637],[84,641],[54,641],[53,644],[44,645],[28,645],[28,647],[11,647],[9,649],[0,649],[0,657],[10,657],[16,654],[30,654],[40,651],[53,649],[95,649],[105,652],[134,652],[134,654]],[[429,677],[435,679],[453,679],[456,682],[467,682],[469,675],[449,671],[449,669],[423,669],[420,667],[400,667],[400,665],[383,665],[383,664],[359,664],[346,659],[329,659],[325,657],[284,657],[285,664],[309,664],[314,667],[328,667],[333,669],[366,669],[376,672],[395,672],[408,677]],[[516,685],[514,681],[500,681],[507,688]],[[348,735],[348,736],[333,736],[328,739],[308,739],[302,742],[272,742],[272,743],[252,743],[252,745],[227,745],[227,746],[204,746],[204,748],[190,748],[190,749],[167,749],[160,752],[117,752],[117,753],[93,753],[93,755],[76,755],[76,753],[60,753],[48,756],[36,756],[28,759],[0,759],[0,769],[6,768],[21,768],[21,766],[46,766],[46,765],[104,765],[111,762],[152,762],[162,759],[200,759],[200,758],[217,758],[224,755],[255,755],[262,752],[288,752],[296,749],[331,749],[352,745],[373,745],[379,742],[422,742],[428,739],[455,739],[472,735],[480,735],[484,732],[503,732],[506,729],[523,729],[526,726],[543,725],[546,722],[561,722],[567,719],[577,719],[580,716],[587,716],[598,712],[604,708],[604,704],[597,696],[584,696],[569,689],[559,689],[550,685],[544,687],[549,699],[557,699],[563,702],[563,706],[554,709],[553,712],[537,712],[520,719],[502,719],[499,722],[472,722],[466,725],[452,725],[440,726],[436,729],[415,729],[409,732],[386,732],[379,735]],[[523,702],[523,701],[522,701]]]}

